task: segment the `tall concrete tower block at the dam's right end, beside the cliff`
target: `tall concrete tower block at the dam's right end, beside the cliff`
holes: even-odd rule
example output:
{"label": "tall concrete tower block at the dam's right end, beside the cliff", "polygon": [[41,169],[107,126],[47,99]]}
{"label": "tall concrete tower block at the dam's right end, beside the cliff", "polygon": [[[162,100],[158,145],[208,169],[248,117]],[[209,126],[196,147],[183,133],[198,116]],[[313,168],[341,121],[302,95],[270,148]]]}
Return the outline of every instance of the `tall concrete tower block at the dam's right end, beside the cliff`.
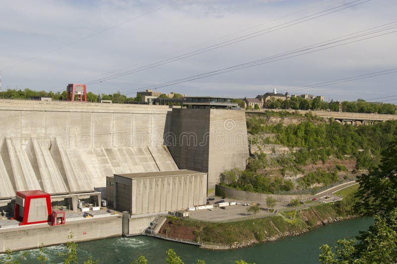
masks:
{"label": "tall concrete tower block at the dam's right end, beside the cliff", "polygon": [[245,112],[173,109],[165,143],[180,169],[208,173],[208,194],[213,194],[222,172],[245,169],[249,157]]}

